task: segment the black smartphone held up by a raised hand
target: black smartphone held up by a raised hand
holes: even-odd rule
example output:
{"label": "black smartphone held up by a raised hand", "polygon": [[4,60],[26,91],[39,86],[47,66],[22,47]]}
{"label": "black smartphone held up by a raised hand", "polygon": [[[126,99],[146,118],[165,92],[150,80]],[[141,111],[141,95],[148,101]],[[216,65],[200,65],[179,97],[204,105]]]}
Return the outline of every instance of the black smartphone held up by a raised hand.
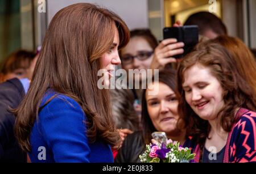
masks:
{"label": "black smartphone held up by a raised hand", "polygon": [[199,32],[197,26],[183,27],[166,27],[163,29],[164,39],[175,38],[178,42],[183,42],[184,53],[174,56],[174,58],[182,58],[195,47],[199,41]]}

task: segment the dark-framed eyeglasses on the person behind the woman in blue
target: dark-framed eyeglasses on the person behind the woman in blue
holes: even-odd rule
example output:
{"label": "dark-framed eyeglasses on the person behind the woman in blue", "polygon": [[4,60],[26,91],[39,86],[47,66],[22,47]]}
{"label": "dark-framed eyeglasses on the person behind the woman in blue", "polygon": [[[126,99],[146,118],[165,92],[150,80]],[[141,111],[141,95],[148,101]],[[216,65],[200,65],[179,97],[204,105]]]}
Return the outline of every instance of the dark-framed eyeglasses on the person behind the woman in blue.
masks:
{"label": "dark-framed eyeglasses on the person behind the woman in blue", "polygon": [[130,63],[133,63],[134,58],[138,58],[140,61],[147,60],[154,52],[153,51],[141,51],[135,56],[131,56],[129,54],[126,54],[125,56],[122,56],[122,64],[123,65],[128,65]]}

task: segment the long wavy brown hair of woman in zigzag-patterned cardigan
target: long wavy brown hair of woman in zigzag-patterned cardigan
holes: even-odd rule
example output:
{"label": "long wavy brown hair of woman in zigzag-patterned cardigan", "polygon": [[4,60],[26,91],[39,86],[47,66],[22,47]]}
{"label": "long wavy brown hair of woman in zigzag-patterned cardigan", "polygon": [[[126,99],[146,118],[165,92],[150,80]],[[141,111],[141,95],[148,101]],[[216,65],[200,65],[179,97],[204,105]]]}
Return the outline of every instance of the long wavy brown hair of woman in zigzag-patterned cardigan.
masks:
{"label": "long wavy brown hair of woman in zigzag-patterned cardigan", "polygon": [[185,100],[185,92],[182,87],[184,72],[196,63],[209,67],[212,75],[218,79],[223,88],[224,107],[220,108],[217,119],[218,125],[225,131],[231,131],[232,125],[236,121],[234,115],[237,108],[244,107],[253,111],[256,110],[256,94],[238,73],[236,61],[224,46],[210,40],[205,41],[185,56],[177,73],[177,86],[181,95],[178,106],[179,121],[184,122],[187,136],[192,135],[197,143],[203,145],[209,135],[209,122],[201,119],[192,110]]}

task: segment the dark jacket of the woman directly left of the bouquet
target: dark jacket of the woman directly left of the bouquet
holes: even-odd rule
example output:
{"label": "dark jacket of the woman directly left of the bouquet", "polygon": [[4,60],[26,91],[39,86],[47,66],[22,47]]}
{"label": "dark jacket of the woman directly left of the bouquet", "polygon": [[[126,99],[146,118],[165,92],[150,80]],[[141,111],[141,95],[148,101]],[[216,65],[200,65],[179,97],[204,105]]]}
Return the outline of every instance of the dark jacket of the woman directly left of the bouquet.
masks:
{"label": "dark jacket of the woman directly left of the bouquet", "polygon": [[142,131],[135,131],[127,135],[123,141],[115,158],[115,163],[140,163],[139,155],[146,150],[146,144],[143,141]]}

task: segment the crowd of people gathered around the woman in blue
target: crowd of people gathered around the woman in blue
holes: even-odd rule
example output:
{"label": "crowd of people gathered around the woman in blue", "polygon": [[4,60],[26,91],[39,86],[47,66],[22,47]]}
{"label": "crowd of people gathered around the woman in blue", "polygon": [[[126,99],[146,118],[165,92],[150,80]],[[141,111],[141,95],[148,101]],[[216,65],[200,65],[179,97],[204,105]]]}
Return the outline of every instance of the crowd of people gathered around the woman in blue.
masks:
{"label": "crowd of people gathered around the woman in blue", "polygon": [[[195,162],[256,162],[253,52],[210,12],[184,25],[197,25],[200,40],[176,59],[183,42],[129,31],[110,10],[61,9],[40,52],[18,50],[1,62],[0,162],[137,163],[154,131],[189,147]],[[100,89],[101,76],[108,86],[117,67],[159,73],[146,88]],[[148,75],[126,78],[129,86]]]}

